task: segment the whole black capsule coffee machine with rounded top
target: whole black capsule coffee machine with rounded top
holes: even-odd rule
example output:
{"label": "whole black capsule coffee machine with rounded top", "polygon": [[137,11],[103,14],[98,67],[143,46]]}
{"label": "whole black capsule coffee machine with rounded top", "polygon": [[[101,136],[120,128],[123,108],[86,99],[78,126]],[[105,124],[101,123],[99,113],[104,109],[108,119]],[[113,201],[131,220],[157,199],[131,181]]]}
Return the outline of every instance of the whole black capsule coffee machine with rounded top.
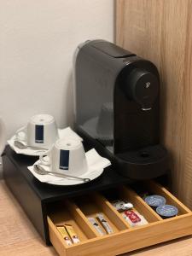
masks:
{"label": "whole black capsule coffee machine with rounded top", "polygon": [[150,61],[103,40],[75,55],[76,131],[132,179],[167,172],[160,145],[160,78]]}

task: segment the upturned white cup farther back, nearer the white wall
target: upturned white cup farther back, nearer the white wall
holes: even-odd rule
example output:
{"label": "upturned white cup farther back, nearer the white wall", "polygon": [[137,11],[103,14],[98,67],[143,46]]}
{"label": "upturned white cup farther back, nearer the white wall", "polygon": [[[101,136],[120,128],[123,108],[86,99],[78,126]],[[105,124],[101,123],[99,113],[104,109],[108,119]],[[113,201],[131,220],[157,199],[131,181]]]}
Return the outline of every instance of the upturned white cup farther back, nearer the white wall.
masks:
{"label": "upturned white cup farther back, nearer the white wall", "polygon": [[58,139],[55,119],[49,114],[32,116],[28,124],[16,131],[16,139],[26,142],[27,146],[51,148]]}

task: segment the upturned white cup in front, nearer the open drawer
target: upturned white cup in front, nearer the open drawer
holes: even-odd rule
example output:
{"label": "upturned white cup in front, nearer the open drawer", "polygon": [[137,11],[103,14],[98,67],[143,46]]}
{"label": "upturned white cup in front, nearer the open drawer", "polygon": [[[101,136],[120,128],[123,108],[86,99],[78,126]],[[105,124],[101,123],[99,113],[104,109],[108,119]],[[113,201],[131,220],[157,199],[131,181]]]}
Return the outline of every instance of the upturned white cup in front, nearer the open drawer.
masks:
{"label": "upturned white cup in front, nearer the open drawer", "polygon": [[[45,158],[44,156],[47,156]],[[46,154],[40,155],[40,164],[50,166],[52,172],[81,176],[88,170],[84,146],[79,140],[59,139]]]}

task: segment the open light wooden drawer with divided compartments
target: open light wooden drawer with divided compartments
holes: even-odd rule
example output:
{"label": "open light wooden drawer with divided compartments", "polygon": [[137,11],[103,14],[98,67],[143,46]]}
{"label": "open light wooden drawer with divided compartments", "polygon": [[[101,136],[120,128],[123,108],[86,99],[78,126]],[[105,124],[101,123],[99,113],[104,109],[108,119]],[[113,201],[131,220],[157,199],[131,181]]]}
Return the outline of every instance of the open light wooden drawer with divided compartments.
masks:
{"label": "open light wooden drawer with divided compartments", "polygon": [[[192,234],[192,212],[161,185],[150,182],[147,183],[147,188],[154,194],[164,195],[168,203],[178,208],[178,215],[174,218],[160,218],[128,187],[115,189],[115,194],[121,199],[131,201],[137,211],[148,220],[148,224],[131,227],[108,201],[110,193],[87,195],[87,198],[79,197],[73,201],[60,202],[48,216],[49,239],[57,253],[67,256],[114,256]],[[102,212],[108,219],[113,234],[101,236],[92,227],[87,217],[94,217],[98,212]],[[55,227],[56,224],[66,223],[73,225],[81,241],[79,244],[66,246]]]}

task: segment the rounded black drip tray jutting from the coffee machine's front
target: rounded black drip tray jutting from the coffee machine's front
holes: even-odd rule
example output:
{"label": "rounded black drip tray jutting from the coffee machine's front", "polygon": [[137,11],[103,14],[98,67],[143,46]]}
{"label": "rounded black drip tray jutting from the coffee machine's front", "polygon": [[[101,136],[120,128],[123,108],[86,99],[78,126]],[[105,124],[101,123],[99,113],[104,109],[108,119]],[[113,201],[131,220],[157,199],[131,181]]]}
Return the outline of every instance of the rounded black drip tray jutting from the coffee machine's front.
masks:
{"label": "rounded black drip tray jutting from the coffee machine's front", "polygon": [[161,145],[114,154],[118,172],[132,179],[160,177],[167,172],[167,151]]}

